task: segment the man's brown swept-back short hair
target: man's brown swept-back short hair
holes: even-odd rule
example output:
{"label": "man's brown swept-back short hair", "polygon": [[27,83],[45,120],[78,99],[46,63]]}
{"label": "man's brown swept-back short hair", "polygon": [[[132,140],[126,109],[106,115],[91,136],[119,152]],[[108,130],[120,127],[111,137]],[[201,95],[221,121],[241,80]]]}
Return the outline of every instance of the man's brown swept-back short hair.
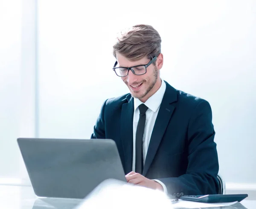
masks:
{"label": "man's brown swept-back short hair", "polygon": [[157,30],[149,25],[135,25],[120,32],[113,46],[116,52],[131,61],[137,61],[145,56],[152,59],[161,53],[161,38]]}

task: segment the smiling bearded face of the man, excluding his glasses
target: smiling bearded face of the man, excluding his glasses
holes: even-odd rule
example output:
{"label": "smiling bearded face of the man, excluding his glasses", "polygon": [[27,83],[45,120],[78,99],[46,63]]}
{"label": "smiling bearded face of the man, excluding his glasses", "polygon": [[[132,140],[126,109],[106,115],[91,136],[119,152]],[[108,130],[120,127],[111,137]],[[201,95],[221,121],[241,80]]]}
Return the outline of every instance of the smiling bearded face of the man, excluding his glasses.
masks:
{"label": "smiling bearded face of the man, excluding his glasses", "polygon": [[[162,56],[160,56],[162,57]],[[116,53],[116,59],[119,67],[134,67],[137,65],[148,64],[150,59],[144,57],[138,61],[130,61],[124,56]],[[157,58],[158,59],[158,58]],[[145,102],[150,96],[152,96],[161,86],[161,80],[159,76],[159,61],[157,64],[151,64],[147,67],[147,72],[144,75],[135,75],[131,70],[125,77],[121,77],[125,84],[128,86],[131,95],[134,98],[140,99]]]}

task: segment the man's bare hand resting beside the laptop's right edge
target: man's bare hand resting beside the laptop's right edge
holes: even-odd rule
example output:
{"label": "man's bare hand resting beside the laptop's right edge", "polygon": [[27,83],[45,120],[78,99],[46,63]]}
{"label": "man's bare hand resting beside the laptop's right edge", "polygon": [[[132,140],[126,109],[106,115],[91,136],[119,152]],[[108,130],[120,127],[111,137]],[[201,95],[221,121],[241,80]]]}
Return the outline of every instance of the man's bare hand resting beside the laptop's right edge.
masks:
{"label": "man's bare hand resting beside the laptop's right edge", "polygon": [[134,171],[126,174],[125,177],[128,183],[163,191],[163,186],[160,183],[150,180],[141,174],[135,173]]}

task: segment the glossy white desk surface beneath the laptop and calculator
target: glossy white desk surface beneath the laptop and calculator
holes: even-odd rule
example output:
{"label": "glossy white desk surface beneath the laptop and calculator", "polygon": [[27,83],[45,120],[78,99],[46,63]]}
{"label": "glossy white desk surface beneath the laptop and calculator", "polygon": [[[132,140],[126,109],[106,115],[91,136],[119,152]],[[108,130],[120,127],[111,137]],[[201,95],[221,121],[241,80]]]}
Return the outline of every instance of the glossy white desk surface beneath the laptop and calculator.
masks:
{"label": "glossy white desk surface beneath the laptop and calculator", "polygon": [[[73,209],[80,202],[81,200],[76,199],[38,198],[30,186],[0,185],[0,208],[3,209]],[[255,207],[256,200],[243,200],[233,206],[215,207],[215,209],[254,209]]]}

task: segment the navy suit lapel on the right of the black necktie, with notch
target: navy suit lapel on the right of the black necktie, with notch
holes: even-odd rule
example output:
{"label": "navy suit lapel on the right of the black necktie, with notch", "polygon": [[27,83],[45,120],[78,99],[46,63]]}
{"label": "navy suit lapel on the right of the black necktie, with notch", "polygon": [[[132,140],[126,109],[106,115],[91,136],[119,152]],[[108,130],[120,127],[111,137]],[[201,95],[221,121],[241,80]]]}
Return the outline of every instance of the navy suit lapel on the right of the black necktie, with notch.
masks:
{"label": "navy suit lapel on the right of the black necktie, with notch", "polygon": [[147,156],[143,168],[143,176],[147,174],[154,156],[157,153],[157,149],[166,131],[167,125],[169,124],[172,113],[175,110],[175,106],[172,105],[175,101],[177,101],[177,92],[166,82],[166,91],[164,93],[148,145]]}

